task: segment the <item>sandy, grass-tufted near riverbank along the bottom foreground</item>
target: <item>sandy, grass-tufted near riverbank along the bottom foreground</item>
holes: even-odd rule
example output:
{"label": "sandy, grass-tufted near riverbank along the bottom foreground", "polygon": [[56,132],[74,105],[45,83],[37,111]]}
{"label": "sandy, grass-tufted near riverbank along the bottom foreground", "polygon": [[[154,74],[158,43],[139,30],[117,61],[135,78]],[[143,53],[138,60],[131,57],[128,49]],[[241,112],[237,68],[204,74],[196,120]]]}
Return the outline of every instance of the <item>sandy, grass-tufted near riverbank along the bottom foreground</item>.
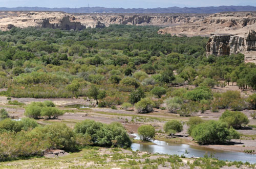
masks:
{"label": "sandy, grass-tufted near riverbank along the bottom foreground", "polygon": [[120,148],[88,147],[57,158],[31,158],[0,163],[0,168],[255,168],[254,164],[225,162],[209,157],[181,158],[176,155],[134,152]]}

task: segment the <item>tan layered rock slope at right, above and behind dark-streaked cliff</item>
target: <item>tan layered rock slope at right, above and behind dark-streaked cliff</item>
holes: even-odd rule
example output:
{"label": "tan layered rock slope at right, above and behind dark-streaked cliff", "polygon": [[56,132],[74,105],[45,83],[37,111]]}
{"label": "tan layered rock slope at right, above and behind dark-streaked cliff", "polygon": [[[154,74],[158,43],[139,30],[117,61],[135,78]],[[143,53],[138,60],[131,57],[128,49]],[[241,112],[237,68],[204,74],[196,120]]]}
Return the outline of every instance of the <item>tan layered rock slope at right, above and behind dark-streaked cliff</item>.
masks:
{"label": "tan layered rock slope at right, above and behind dark-streaked cliff", "polygon": [[255,12],[226,12],[204,16],[199,21],[167,27],[159,30],[159,33],[168,33],[177,36],[234,35],[245,33],[255,28]]}

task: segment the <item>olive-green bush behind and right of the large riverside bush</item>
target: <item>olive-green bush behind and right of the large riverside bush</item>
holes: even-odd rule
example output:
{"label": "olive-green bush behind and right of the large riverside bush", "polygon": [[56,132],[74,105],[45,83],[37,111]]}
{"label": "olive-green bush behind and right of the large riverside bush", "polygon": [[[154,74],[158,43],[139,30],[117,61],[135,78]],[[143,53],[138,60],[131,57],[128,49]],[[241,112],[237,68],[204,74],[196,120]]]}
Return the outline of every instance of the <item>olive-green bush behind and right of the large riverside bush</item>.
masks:
{"label": "olive-green bush behind and right of the large riverside bush", "polygon": [[226,122],[228,126],[232,126],[235,129],[241,128],[241,126],[247,125],[249,123],[248,117],[238,111],[228,111],[226,110],[220,117],[220,120]]}

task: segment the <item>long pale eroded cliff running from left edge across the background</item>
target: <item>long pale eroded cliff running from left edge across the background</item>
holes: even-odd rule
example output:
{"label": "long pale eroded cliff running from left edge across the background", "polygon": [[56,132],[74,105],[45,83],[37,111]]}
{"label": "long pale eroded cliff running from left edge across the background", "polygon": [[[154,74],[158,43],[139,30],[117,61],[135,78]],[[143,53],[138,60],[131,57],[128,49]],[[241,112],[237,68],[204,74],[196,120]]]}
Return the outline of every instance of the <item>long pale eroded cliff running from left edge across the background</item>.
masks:
{"label": "long pale eroded cliff running from left edge across the background", "polygon": [[117,25],[172,26],[200,22],[207,15],[197,14],[68,14],[64,12],[0,12],[0,29],[12,27],[81,30]]}

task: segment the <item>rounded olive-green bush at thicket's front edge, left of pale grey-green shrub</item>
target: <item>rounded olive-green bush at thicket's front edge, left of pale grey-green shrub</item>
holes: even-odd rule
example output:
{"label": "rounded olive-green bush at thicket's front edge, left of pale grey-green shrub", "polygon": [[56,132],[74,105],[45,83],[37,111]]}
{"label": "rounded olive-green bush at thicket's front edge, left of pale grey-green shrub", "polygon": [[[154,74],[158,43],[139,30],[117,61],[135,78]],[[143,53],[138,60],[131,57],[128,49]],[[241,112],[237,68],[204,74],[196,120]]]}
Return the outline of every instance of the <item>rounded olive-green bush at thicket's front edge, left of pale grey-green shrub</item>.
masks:
{"label": "rounded olive-green bush at thicket's front edge, left of pale grey-green shrub", "polygon": [[150,113],[153,110],[154,102],[150,98],[141,99],[138,103],[135,104],[137,113]]}

